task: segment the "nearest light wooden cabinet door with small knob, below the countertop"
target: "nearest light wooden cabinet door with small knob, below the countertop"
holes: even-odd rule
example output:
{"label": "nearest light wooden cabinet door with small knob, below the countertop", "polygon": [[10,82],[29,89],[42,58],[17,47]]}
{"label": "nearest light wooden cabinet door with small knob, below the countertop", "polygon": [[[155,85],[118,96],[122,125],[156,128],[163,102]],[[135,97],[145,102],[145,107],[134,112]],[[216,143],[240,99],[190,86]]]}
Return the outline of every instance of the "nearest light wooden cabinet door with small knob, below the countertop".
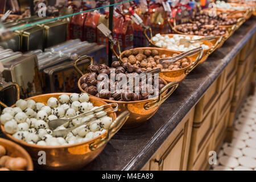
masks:
{"label": "nearest light wooden cabinet door with small knob, below the countertop", "polygon": [[194,109],[183,118],[143,169],[158,171],[187,170]]}

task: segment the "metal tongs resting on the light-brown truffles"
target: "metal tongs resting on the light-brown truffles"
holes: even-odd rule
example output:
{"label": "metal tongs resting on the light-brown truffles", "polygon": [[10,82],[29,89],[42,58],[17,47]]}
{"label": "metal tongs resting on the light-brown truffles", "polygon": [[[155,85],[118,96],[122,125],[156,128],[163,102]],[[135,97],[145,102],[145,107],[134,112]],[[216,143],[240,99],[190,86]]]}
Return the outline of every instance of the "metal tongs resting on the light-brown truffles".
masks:
{"label": "metal tongs resting on the light-brown truffles", "polygon": [[201,50],[203,50],[202,47],[197,47],[195,49],[191,49],[190,51],[186,51],[186,52],[180,53],[179,55],[174,56],[174,57],[160,58],[159,59],[159,63],[160,64],[174,63],[175,61],[183,59],[184,57],[195,55],[196,53],[200,52]]}

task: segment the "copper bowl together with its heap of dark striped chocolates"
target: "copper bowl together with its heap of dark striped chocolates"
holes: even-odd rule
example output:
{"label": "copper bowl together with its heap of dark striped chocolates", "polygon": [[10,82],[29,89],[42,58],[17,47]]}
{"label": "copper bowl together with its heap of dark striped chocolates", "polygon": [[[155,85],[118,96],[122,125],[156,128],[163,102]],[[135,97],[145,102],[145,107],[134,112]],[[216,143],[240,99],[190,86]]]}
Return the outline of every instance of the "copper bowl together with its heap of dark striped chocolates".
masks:
{"label": "copper bowl together with its heap of dark striped chocolates", "polygon": [[122,128],[129,129],[151,118],[179,85],[176,81],[167,84],[158,75],[138,77],[141,73],[141,68],[127,62],[114,61],[111,68],[105,64],[90,65],[88,73],[79,79],[78,86],[81,92],[92,97],[118,103],[117,114],[128,110],[130,117]]}

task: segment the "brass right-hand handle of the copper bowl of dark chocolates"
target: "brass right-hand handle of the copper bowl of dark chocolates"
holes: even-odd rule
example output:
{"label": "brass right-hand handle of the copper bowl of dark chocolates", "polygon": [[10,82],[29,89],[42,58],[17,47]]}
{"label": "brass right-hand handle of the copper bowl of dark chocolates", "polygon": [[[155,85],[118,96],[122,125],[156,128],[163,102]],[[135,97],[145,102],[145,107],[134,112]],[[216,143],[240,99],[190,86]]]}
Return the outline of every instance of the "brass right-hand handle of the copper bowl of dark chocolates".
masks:
{"label": "brass right-hand handle of the copper bowl of dark chocolates", "polygon": [[[165,100],[167,100],[168,97],[171,96],[171,94],[174,92],[174,90],[177,88],[177,86],[179,85],[179,82],[177,81],[172,81],[170,83],[168,83],[166,86],[164,86],[159,94],[158,94],[158,99],[157,100],[154,100],[154,101],[151,101],[151,102],[147,102],[145,105],[144,105],[144,109],[145,110],[148,110],[148,109],[152,109],[154,107],[157,107],[157,106],[160,106],[161,104],[163,104],[163,102]],[[167,94],[164,94],[164,92],[166,92],[166,90],[170,89]]]}

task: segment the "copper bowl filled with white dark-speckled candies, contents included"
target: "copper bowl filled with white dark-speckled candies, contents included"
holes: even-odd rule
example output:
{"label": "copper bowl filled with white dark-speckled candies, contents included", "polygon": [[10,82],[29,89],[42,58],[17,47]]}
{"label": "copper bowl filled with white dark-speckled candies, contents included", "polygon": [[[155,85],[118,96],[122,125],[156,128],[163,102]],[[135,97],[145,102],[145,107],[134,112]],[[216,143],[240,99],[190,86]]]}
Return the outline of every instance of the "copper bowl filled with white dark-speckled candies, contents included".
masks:
{"label": "copper bowl filled with white dark-speckled candies, contents included", "polygon": [[114,112],[72,130],[65,137],[53,137],[55,130],[79,125],[90,115],[72,119],[51,130],[49,121],[72,118],[107,103],[86,93],[51,93],[18,100],[3,109],[0,116],[3,133],[22,145],[36,167],[43,169],[77,169],[92,161],[122,127],[129,112],[118,117]]}

